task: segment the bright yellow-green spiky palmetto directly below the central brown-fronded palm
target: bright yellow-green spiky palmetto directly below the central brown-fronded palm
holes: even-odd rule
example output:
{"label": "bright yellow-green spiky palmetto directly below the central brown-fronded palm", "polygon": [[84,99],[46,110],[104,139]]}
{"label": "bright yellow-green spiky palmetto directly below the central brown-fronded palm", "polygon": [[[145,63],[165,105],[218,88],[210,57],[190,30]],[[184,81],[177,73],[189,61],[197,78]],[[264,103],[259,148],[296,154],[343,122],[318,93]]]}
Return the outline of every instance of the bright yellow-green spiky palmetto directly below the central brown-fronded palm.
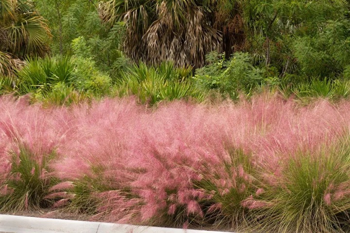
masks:
{"label": "bright yellow-green spiky palmetto directly below the central brown-fronded palm", "polygon": [[136,95],[142,103],[151,105],[190,97],[203,101],[206,94],[191,83],[190,75],[190,67],[175,68],[172,63],[162,63],[156,68],[140,63],[123,74],[116,92],[119,96]]}

